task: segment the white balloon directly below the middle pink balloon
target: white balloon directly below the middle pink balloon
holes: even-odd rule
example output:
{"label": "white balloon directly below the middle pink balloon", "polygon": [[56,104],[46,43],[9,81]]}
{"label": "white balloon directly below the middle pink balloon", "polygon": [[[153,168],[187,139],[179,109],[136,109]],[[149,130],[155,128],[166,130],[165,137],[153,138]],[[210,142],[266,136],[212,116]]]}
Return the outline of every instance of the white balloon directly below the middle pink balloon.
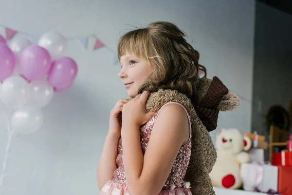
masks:
{"label": "white balloon directly below the middle pink balloon", "polygon": [[54,88],[46,80],[34,80],[30,84],[31,98],[28,105],[37,108],[44,107],[53,98]]}

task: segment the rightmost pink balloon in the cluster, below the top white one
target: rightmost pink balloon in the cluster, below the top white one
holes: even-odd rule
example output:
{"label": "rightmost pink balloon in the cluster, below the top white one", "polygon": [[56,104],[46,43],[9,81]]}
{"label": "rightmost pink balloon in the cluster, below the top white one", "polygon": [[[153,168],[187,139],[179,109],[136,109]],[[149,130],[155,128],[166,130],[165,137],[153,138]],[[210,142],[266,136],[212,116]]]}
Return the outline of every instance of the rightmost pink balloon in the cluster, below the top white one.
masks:
{"label": "rightmost pink balloon in the cluster, below the top white one", "polygon": [[48,75],[48,81],[55,89],[71,87],[77,76],[77,64],[69,57],[56,59]]}

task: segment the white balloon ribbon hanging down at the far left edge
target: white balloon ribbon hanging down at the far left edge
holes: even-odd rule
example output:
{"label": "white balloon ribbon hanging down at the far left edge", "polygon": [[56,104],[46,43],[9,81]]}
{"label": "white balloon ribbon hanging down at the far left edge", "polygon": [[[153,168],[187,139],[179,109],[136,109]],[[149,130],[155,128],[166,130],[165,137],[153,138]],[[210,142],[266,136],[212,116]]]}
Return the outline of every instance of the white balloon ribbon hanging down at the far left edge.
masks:
{"label": "white balloon ribbon hanging down at the far left edge", "polygon": [[11,146],[11,139],[13,137],[13,131],[11,129],[10,121],[8,119],[7,122],[7,130],[8,130],[8,140],[6,144],[6,149],[4,152],[4,160],[3,160],[3,165],[2,165],[2,173],[0,175],[0,193],[2,192],[2,186],[3,186],[3,181],[4,177],[7,175],[7,161],[9,158],[9,153],[10,153],[10,146]]}

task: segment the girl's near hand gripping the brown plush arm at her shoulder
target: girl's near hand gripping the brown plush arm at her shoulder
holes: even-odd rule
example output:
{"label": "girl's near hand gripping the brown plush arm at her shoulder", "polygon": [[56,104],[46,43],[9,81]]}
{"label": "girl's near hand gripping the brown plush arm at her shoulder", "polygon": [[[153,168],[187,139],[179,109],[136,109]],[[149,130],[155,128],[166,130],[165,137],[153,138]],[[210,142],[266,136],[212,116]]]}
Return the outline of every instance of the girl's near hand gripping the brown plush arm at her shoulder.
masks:
{"label": "girl's near hand gripping the brown plush arm at her shoulder", "polygon": [[154,115],[153,112],[147,112],[145,108],[146,100],[149,95],[150,92],[144,91],[142,94],[139,94],[128,101],[128,103],[124,104],[122,112],[124,123],[141,127]]}

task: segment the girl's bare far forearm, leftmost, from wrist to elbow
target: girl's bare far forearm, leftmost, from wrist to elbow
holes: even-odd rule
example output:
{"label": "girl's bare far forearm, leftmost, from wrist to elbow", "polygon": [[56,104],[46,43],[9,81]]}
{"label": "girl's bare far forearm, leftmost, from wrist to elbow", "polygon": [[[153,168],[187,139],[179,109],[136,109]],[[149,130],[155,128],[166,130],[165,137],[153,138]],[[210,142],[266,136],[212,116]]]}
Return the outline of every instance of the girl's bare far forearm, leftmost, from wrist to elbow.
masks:
{"label": "girl's bare far forearm, leftmost, from wrist to elbow", "polygon": [[117,169],[116,158],[118,155],[118,142],[120,137],[108,133],[104,148],[97,167],[97,183],[101,188],[107,181],[113,178],[113,172]]}

